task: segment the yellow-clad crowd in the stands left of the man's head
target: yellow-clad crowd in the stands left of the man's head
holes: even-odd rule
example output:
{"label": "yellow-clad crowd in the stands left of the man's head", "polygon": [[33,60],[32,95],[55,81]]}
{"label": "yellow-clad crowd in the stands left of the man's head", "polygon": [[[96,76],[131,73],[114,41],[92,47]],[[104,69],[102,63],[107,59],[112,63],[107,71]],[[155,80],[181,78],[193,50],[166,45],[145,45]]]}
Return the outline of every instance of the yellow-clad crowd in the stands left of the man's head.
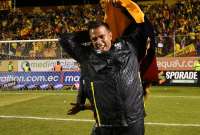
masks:
{"label": "yellow-clad crowd in the stands left of the man's head", "polygon": [[[1,14],[0,40],[54,39],[63,32],[85,29],[88,21],[103,17],[100,5],[74,5],[34,9],[16,9]],[[102,19],[102,18],[99,18]],[[2,43],[0,54],[22,58],[60,58],[57,42]],[[7,55],[2,55],[6,57]],[[12,57],[13,58],[13,57]]]}

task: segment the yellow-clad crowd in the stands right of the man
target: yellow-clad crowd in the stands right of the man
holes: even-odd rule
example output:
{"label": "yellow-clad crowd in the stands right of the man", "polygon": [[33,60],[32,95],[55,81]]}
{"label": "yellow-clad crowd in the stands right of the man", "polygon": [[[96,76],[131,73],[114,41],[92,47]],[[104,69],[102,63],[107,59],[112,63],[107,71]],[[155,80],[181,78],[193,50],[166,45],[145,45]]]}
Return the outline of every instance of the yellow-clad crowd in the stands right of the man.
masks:
{"label": "yellow-clad crowd in the stands right of the man", "polygon": [[174,5],[144,5],[143,9],[155,27],[157,55],[180,51],[194,43],[200,56],[200,1],[179,0]]}

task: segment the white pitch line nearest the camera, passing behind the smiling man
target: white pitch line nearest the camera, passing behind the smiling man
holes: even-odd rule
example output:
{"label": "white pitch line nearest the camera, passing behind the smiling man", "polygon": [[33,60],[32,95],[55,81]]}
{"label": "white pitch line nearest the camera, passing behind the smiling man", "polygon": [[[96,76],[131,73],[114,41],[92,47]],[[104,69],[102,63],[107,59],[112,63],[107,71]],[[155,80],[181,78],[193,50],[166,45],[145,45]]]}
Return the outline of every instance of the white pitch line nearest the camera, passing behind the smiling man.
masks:
{"label": "white pitch line nearest the camera, passing behind the smiling man", "polygon": [[[67,118],[47,118],[47,117],[33,117],[33,116],[6,116],[0,115],[0,118],[5,119],[32,119],[32,120],[53,120],[53,121],[75,121],[75,122],[92,122],[91,119],[67,119]],[[156,126],[175,126],[175,127],[200,127],[200,124],[178,124],[178,123],[156,123],[156,122],[145,122],[145,125],[156,125]]]}

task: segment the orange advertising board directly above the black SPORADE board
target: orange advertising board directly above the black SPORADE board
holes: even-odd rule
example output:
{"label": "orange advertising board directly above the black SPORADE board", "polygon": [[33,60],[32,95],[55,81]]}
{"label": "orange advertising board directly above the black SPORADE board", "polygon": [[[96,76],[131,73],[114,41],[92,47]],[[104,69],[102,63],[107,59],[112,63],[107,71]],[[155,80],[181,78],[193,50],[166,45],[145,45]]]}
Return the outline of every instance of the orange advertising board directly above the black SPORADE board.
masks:
{"label": "orange advertising board directly above the black SPORADE board", "polygon": [[160,71],[192,71],[198,57],[157,57],[156,59]]}

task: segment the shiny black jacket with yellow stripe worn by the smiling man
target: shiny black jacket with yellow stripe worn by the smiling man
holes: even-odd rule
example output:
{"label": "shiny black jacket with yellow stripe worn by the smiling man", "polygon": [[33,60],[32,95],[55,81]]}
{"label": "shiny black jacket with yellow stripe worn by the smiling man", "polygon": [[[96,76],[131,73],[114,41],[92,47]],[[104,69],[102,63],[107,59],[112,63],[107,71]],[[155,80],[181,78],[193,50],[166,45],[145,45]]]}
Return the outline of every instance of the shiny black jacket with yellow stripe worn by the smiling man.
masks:
{"label": "shiny black jacket with yellow stripe worn by the smiling man", "polygon": [[105,53],[80,46],[78,34],[61,36],[64,50],[86,68],[86,86],[93,87],[84,93],[94,105],[98,126],[128,126],[144,117],[139,56],[145,54],[145,28],[145,23],[138,24],[136,32],[118,40]]}

